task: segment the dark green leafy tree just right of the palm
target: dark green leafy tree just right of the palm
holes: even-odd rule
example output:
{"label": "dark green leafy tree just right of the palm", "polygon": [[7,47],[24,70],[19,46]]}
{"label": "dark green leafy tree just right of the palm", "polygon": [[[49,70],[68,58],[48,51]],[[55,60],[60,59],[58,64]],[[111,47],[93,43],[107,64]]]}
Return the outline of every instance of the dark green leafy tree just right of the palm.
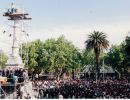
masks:
{"label": "dark green leafy tree just right of the palm", "polygon": [[125,68],[124,61],[125,54],[122,45],[113,45],[105,57],[105,63],[108,66],[112,66],[119,74],[119,77],[121,77],[123,69]]}

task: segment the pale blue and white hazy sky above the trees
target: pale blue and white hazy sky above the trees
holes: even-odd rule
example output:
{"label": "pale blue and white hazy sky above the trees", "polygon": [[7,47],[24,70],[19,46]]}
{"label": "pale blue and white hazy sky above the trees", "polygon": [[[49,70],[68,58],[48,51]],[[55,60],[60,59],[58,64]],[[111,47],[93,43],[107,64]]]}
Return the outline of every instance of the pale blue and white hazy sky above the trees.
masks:
{"label": "pale blue and white hazy sky above the trees", "polygon": [[87,35],[94,30],[107,34],[110,44],[120,44],[130,31],[130,0],[0,0],[0,49],[10,52],[10,38],[3,34],[10,23],[2,16],[11,2],[24,8],[32,17],[24,25],[29,41],[57,38],[85,47]]}

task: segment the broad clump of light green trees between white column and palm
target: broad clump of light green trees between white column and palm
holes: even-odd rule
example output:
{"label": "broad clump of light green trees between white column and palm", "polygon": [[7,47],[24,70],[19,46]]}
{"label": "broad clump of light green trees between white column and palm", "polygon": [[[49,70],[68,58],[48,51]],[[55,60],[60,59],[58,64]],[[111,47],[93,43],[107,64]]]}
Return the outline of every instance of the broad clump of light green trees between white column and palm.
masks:
{"label": "broad clump of light green trees between white column and palm", "polygon": [[55,74],[58,79],[64,72],[79,68],[82,62],[79,50],[64,36],[23,44],[22,58],[28,68]]}

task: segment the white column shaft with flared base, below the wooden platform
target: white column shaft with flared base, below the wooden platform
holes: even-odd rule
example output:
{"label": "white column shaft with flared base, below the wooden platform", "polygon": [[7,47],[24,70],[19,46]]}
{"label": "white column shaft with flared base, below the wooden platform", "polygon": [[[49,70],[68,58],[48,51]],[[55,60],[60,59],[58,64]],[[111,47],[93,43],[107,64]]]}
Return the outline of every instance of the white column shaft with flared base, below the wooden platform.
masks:
{"label": "white column shaft with flared base, below the wooden platform", "polygon": [[19,49],[20,49],[20,22],[19,20],[14,20],[13,25],[13,44],[12,44],[12,54],[9,57],[6,67],[7,68],[24,68],[24,64],[22,62],[22,58],[20,57]]}

